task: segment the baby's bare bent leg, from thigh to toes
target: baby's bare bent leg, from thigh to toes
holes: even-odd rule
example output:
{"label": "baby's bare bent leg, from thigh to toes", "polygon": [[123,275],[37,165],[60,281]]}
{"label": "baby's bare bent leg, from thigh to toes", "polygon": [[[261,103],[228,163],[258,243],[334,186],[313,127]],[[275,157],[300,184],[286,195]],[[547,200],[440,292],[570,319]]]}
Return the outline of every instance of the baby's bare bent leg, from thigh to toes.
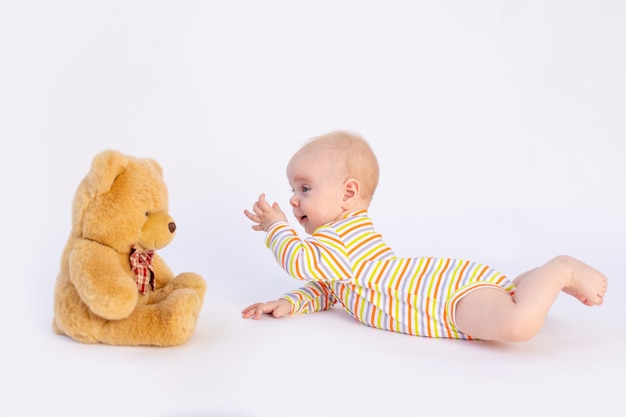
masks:
{"label": "baby's bare bent leg, from thigh to toes", "polygon": [[497,288],[481,288],[463,297],[456,307],[459,329],[483,340],[529,340],[543,326],[561,291],[593,306],[602,304],[607,289],[604,275],[568,256],[558,256],[514,282],[513,296]]}

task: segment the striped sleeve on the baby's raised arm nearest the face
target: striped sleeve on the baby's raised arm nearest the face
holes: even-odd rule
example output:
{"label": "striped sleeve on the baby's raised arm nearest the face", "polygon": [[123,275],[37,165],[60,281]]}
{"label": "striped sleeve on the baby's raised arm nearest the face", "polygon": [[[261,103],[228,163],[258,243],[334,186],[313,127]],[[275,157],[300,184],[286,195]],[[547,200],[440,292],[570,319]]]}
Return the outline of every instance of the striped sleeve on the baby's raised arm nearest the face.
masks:
{"label": "striped sleeve on the baby's raised arm nearest the face", "polygon": [[265,241],[278,264],[292,277],[304,281],[336,281],[352,277],[343,242],[331,228],[318,229],[301,239],[287,222],[273,224]]}

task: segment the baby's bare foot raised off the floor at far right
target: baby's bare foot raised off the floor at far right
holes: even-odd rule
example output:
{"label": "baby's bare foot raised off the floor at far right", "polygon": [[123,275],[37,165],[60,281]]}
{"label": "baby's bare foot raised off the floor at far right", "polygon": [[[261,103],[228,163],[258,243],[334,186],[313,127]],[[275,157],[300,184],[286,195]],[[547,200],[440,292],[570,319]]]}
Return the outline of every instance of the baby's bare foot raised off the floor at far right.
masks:
{"label": "baby's bare foot raised off the floor at far right", "polygon": [[563,288],[569,294],[587,306],[601,305],[608,287],[607,278],[591,266],[570,256],[556,258],[571,271],[570,284]]}

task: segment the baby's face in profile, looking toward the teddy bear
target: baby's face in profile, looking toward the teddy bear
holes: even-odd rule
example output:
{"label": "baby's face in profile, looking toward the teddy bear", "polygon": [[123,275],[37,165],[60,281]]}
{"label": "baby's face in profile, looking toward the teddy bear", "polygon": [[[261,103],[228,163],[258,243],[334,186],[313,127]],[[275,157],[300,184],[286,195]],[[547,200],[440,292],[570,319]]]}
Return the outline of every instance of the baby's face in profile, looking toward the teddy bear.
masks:
{"label": "baby's face in profile, looking toward the teddy bear", "polygon": [[344,164],[324,149],[310,149],[294,155],[287,165],[287,179],[293,190],[289,199],[293,214],[304,230],[341,218],[347,179]]}

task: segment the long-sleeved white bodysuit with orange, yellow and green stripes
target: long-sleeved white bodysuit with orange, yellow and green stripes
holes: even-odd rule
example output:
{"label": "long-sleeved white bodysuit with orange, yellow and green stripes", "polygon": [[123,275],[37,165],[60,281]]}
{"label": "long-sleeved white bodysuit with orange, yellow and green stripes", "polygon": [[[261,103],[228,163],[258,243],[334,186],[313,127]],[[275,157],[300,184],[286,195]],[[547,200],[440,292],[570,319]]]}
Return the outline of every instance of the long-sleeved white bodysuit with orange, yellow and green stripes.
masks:
{"label": "long-sleeved white bodysuit with orange, yellow and green stripes", "polygon": [[476,262],[396,257],[365,210],[321,226],[306,239],[288,223],[275,223],[266,245],[287,273],[307,281],[281,297],[292,304],[291,314],[340,303],[358,321],[378,329],[471,339],[454,324],[458,301],[481,287],[515,290],[507,277]]}

